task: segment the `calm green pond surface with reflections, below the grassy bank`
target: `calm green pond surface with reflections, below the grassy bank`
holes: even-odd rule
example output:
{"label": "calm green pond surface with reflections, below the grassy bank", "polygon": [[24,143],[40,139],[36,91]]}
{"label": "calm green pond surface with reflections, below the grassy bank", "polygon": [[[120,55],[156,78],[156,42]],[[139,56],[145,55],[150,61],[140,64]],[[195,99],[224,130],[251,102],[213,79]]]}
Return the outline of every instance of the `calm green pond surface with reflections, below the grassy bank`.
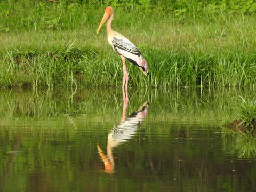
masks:
{"label": "calm green pond surface with reflections, below the grassy bank", "polygon": [[[251,94],[251,95],[250,95]],[[255,191],[243,90],[0,90],[0,191]]]}

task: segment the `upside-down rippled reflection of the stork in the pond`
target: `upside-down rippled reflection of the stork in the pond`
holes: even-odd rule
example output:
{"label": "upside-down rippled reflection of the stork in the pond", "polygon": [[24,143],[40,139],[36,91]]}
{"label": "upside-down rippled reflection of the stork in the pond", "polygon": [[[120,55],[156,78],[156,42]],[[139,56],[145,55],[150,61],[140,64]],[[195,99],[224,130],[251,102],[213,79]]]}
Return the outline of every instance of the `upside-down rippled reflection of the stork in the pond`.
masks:
{"label": "upside-down rippled reflection of the stork in the pond", "polygon": [[114,147],[122,145],[128,139],[130,139],[137,131],[143,118],[146,117],[149,104],[146,101],[137,111],[133,112],[129,117],[126,117],[126,109],[128,105],[128,91],[123,90],[123,115],[121,121],[114,126],[111,132],[108,134],[107,143],[107,155],[105,155],[98,145],[99,155],[104,163],[105,172],[113,173],[115,169],[115,162],[112,154]]}

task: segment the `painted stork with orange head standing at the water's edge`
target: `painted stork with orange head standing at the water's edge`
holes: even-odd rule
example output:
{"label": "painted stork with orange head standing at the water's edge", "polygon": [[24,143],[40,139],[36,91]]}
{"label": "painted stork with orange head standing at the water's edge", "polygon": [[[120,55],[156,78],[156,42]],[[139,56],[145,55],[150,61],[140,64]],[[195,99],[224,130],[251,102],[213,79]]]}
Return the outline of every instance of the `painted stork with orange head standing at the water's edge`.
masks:
{"label": "painted stork with orange head standing at the water's edge", "polygon": [[120,55],[123,61],[123,89],[128,88],[128,73],[125,65],[125,59],[133,63],[135,66],[137,66],[143,74],[148,75],[148,66],[146,60],[142,57],[140,51],[137,49],[137,47],[129,41],[126,37],[119,34],[118,32],[114,31],[111,28],[111,22],[114,18],[114,9],[110,6],[108,6],[104,10],[103,18],[100,22],[99,28],[97,30],[97,34],[100,31],[100,28],[107,20],[107,33],[108,33],[108,43],[111,45],[111,47],[114,49],[114,51]]}

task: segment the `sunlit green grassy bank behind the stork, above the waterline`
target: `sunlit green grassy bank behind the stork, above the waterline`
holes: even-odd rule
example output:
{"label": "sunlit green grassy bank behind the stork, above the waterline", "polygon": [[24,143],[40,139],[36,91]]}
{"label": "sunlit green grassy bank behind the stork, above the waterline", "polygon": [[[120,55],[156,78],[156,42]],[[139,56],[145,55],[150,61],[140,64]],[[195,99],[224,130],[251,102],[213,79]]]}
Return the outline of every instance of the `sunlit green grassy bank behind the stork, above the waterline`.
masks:
{"label": "sunlit green grassy bank behind the stork, above the waterline", "polygon": [[[105,5],[2,4],[0,86],[121,86],[122,61],[95,33]],[[6,11],[7,10],[7,11]],[[254,15],[117,9],[113,28],[146,58],[129,86],[254,86]]]}

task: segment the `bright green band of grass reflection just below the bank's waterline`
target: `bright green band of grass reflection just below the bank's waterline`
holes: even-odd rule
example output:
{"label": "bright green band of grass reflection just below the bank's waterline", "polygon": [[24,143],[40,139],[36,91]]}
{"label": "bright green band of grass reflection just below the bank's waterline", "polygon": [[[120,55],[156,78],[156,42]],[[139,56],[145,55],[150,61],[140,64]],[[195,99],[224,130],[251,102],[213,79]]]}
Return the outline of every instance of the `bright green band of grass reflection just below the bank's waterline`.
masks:
{"label": "bright green band of grass reflection just below the bank's waterline", "polygon": [[[1,91],[0,117],[50,118],[85,116],[94,119],[122,114],[121,89],[77,89]],[[205,89],[129,89],[127,115],[149,102],[150,121],[222,124],[230,117],[239,90]],[[252,94],[252,92],[249,92]],[[252,97],[250,94],[247,97]],[[4,102],[3,102],[4,101]]]}

